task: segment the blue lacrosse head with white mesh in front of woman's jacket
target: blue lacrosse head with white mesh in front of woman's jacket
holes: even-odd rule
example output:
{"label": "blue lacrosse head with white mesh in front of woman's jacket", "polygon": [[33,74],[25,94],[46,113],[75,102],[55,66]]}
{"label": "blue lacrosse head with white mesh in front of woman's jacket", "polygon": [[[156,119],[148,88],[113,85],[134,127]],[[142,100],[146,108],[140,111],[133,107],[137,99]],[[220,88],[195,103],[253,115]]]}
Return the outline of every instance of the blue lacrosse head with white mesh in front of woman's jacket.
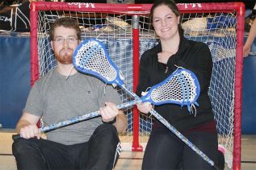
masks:
{"label": "blue lacrosse head with white mesh in front of woman's jacket", "polygon": [[154,105],[174,103],[191,106],[196,103],[199,93],[199,81],[195,74],[188,69],[178,68],[165,81],[153,85],[141,100]]}

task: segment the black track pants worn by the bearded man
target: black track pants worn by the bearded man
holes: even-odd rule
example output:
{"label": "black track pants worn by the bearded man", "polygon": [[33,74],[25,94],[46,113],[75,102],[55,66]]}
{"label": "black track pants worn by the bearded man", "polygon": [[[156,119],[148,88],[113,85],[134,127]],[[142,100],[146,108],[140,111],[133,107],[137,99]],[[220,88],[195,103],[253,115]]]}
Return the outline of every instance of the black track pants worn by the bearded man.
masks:
{"label": "black track pants worn by the bearded man", "polygon": [[18,169],[112,169],[120,149],[115,126],[102,124],[86,143],[63,145],[45,139],[17,139],[13,154]]}

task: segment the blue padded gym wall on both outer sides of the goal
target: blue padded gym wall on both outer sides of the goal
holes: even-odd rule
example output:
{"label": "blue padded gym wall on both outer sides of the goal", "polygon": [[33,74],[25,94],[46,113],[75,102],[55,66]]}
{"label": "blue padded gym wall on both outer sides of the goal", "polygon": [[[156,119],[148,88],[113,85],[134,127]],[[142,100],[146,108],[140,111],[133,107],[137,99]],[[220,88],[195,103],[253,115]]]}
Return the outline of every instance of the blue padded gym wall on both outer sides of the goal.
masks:
{"label": "blue padded gym wall on both outer sides of the goal", "polygon": [[[0,34],[0,47],[0,123],[15,128],[30,90],[30,37]],[[256,40],[254,47],[256,52]],[[256,55],[244,59],[242,134],[256,134],[255,73]]]}

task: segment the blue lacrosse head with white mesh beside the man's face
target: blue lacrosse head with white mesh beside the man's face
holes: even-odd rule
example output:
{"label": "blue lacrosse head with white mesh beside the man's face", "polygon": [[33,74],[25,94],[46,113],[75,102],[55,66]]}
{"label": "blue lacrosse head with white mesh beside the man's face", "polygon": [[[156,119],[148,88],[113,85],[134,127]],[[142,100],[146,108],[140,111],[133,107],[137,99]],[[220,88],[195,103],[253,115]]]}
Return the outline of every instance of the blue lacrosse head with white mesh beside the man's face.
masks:
{"label": "blue lacrosse head with white mesh beside the man's face", "polygon": [[124,84],[119,69],[111,61],[104,44],[97,39],[87,39],[78,45],[73,52],[73,65],[78,71],[99,77],[107,84]]}

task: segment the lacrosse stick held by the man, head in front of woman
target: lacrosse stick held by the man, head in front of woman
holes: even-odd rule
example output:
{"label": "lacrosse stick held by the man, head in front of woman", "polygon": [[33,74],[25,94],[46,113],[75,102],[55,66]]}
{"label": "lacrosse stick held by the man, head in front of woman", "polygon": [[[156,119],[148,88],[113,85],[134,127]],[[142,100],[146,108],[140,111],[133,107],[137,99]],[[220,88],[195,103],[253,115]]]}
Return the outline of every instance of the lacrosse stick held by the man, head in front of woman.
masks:
{"label": "lacrosse stick held by the man, head in front of woman", "polygon": [[[138,100],[120,104],[116,107],[118,109],[124,109],[124,108],[128,108],[129,106],[136,105],[137,103],[141,103],[141,102],[150,102],[153,105],[162,105],[162,104],[166,104],[166,103],[175,103],[175,104],[181,105],[181,103],[182,103],[181,101],[183,101],[186,97],[180,98],[178,100],[177,99],[174,100],[174,95],[173,95],[174,93],[171,90],[172,86],[174,86],[174,85],[177,86],[177,82],[178,82],[177,79],[179,77],[183,77],[183,79],[191,79],[191,82],[193,82],[193,83],[195,82],[195,84],[198,85],[198,81],[193,73],[191,73],[189,70],[179,69],[176,72],[172,73],[169,77],[167,77],[166,80],[162,81],[161,83],[159,83],[157,85],[153,85],[153,87],[149,90],[148,93],[145,94],[145,96],[139,98]],[[193,79],[195,79],[195,81],[193,81]],[[183,88],[183,89],[185,89],[185,88]],[[180,90],[180,91],[182,91],[182,90]],[[185,90],[183,90],[183,91],[185,91]],[[186,92],[183,92],[183,93],[186,93]],[[165,94],[165,95],[163,95],[163,94]],[[193,102],[195,102],[196,98],[199,96],[199,89],[194,88],[191,91],[191,94],[192,94],[191,99],[193,97],[194,100],[191,100],[191,102],[190,101],[184,102],[187,105],[191,105]],[[184,95],[182,93],[180,93],[180,94],[178,94],[178,96],[182,97]],[[40,131],[41,132],[52,131],[61,126],[68,126],[70,124],[73,124],[76,122],[82,122],[83,120],[98,117],[98,116],[100,116],[99,111],[95,111],[90,114],[79,115],[75,118],[70,118],[69,120],[65,120],[63,122],[53,123],[49,126],[42,126],[40,128]],[[13,135],[13,139],[18,139],[20,137],[21,137],[20,135]]]}

